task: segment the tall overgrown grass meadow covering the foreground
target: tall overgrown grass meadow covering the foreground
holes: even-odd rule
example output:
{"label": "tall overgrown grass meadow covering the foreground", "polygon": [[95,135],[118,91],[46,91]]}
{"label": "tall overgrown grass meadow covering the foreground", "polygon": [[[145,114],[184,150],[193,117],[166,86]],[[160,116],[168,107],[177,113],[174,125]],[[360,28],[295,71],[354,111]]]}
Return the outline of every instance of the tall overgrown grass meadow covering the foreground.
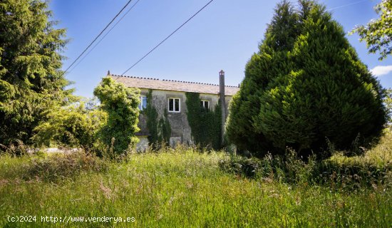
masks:
{"label": "tall overgrown grass meadow covering the foreground", "polygon": [[[373,153],[381,150],[376,147]],[[391,227],[388,183],[392,177],[386,168],[391,160],[376,162],[379,156],[371,152],[365,157],[333,157],[329,173],[317,171],[317,162],[293,157],[255,161],[182,147],[130,155],[120,162],[81,154],[4,155],[0,157],[0,226]],[[255,171],[243,170],[244,162],[256,165]],[[339,165],[352,164],[385,168],[386,179],[364,176],[371,185],[341,187]],[[366,169],[365,165],[359,170]],[[253,177],[247,177],[247,172]],[[316,172],[321,177],[314,177]],[[354,175],[347,180],[355,180]],[[9,215],[36,216],[37,222],[8,222]],[[135,222],[55,224],[41,222],[41,216],[134,217]]]}

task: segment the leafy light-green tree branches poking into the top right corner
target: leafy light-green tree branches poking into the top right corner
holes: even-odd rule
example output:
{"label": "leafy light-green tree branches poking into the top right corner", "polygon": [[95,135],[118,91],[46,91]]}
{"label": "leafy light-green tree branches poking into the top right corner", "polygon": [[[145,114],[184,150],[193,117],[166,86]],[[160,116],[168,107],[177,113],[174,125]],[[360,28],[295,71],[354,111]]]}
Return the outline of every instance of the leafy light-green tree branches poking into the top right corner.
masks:
{"label": "leafy light-green tree branches poking into the top right corner", "polygon": [[358,33],[361,41],[366,41],[369,53],[380,52],[379,60],[392,53],[392,1],[383,0],[376,7],[379,19],[371,20],[366,26],[356,26],[351,33]]}

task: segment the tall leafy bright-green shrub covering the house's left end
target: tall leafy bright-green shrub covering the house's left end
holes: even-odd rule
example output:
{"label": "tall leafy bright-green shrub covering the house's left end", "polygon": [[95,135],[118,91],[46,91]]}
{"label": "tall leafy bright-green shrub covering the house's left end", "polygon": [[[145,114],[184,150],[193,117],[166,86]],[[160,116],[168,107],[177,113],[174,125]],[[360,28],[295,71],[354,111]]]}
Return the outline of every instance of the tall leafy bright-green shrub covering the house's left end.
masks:
{"label": "tall leafy bright-green shrub covering the house's left end", "polygon": [[94,89],[94,95],[100,100],[102,110],[108,113],[108,121],[98,133],[100,140],[111,145],[114,155],[123,154],[138,142],[135,133],[139,130],[140,90],[105,77]]}

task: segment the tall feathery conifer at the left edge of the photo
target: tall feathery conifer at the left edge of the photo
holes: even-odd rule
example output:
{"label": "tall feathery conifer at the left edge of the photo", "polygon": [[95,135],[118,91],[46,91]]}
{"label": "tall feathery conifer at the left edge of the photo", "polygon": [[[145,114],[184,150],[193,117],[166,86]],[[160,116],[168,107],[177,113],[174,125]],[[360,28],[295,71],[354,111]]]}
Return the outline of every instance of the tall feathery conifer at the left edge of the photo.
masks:
{"label": "tall feathery conifer at the left edge of the photo", "polygon": [[61,71],[65,29],[53,28],[48,3],[0,3],[0,143],[30,142],[53,107],[73,99]]}

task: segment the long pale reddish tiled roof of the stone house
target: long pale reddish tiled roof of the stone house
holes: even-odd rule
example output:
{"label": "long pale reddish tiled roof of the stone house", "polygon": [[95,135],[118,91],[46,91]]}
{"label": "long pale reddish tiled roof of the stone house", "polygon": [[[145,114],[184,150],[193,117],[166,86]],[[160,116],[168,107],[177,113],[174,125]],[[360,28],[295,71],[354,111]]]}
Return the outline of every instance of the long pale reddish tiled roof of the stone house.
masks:
{"label": "long pale reddish tiled roof of the stone house", "polygon": [[[139,78],[133,76],[116,76],[110,74],[115,81],[124,83],[125,86],[135,88],[148,88],[153,90],[172,90],[193,93],[218,94],[219,85],[207,83],[195,83],[187,81],[159,80],[158,78]],[[234,95],[239,88],[237,86],[225,86],[225,95]]]}

